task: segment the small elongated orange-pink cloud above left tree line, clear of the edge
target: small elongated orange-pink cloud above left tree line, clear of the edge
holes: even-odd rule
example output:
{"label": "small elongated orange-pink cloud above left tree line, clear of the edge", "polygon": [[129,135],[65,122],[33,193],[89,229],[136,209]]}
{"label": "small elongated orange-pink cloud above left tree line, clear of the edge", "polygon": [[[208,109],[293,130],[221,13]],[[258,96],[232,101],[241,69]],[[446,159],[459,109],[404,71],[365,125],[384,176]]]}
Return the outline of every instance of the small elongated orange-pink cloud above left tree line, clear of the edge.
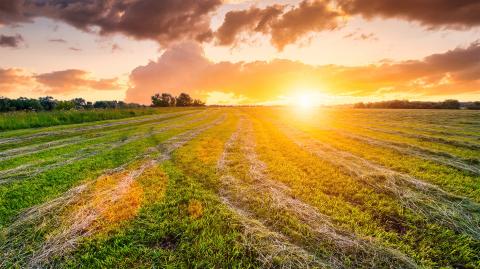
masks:
{"label": "small elongated orange-pink cloud above left tree line, clear of the edge", "polygon": [[36,75],[38,83],[46,86],[47,94],[65,94],[82,90],[117,90],[121,88],[116,78],[92,79],[89,73],[78,69],[68,69]]}

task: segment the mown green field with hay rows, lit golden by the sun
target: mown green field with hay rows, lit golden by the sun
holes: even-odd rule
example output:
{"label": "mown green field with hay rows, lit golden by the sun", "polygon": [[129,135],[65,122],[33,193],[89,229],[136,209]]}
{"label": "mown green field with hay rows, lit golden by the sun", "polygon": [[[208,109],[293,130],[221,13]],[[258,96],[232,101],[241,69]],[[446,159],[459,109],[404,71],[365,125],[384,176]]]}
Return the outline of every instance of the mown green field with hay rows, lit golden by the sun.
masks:
{"label": "mown green field with hay rows, lit golden by the sun", "polygon": [[0,268],[480,268],[480,112],[148,114],[0,132]]}

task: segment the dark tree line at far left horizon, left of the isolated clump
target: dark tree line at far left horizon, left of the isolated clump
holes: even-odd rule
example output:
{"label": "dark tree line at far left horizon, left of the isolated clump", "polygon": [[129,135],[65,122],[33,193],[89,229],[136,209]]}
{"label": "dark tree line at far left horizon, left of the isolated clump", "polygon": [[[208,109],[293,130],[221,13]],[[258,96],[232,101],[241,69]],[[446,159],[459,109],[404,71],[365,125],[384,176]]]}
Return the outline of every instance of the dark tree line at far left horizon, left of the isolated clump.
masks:
{"label": "dark tree line at far left horizon, left of the isolated clump", "polygon": [[106,108],[140,108],[144,105],[135,103],[125,103],[123,101],[96,101],[87,102],[83,98],[74,98],[72,100],[56,100],[51,96],[40,97],[38,99],[20,97],[10,99],[0,97],[0,112],[11,111],[53,111],[53,110],[80,110],[80,109],[106,109]]}

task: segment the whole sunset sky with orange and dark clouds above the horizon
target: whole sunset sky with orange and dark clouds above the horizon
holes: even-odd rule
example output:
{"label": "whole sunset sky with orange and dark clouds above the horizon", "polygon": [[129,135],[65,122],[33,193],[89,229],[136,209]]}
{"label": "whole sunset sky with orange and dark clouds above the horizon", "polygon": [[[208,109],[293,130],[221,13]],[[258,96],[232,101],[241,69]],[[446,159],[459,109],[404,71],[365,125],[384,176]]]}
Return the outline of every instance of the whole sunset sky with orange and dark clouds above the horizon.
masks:
{"label": "whole sunset sky with orange and dark clouds above the horizon", "polygon": [[0,96],[480,100],[480,0],[2,0]]}

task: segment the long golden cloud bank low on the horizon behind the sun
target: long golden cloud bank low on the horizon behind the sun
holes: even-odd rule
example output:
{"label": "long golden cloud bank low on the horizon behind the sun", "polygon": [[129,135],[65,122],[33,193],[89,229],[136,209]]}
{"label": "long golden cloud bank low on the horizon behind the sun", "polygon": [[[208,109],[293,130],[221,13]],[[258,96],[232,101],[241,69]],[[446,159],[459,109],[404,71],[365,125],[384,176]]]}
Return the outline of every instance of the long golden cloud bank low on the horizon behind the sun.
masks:
{"label": "long golden cloud bank low on the horizon behind the sun", "polygon": [[[480,43],[422,60],[367,66],[313,66],[290,60],[214,63],[199,45],[168,49],[130,75],[127,101],[149,103],[156,92],[182,91],[209,98],[261,103],[300,90],[337,96],[445,96],[480,93]],[[215,98],[214,98],[215,99]]]}

